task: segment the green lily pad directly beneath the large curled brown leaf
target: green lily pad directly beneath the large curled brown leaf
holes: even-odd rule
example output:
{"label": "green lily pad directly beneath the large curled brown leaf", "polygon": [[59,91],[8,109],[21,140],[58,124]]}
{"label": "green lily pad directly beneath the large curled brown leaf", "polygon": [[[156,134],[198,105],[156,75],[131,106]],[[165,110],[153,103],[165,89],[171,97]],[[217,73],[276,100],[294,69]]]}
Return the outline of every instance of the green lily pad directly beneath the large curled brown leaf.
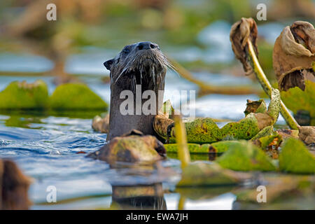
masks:
{"label": "green lily pad directly beneath the large curled brown leaf", "polygon": [[315,125],[315,83],[305,80],[305,90],[299,87],[290,88],[288,91],[281,91],[281,99],[284,104],[293,111],[309,111],[311,125]]}

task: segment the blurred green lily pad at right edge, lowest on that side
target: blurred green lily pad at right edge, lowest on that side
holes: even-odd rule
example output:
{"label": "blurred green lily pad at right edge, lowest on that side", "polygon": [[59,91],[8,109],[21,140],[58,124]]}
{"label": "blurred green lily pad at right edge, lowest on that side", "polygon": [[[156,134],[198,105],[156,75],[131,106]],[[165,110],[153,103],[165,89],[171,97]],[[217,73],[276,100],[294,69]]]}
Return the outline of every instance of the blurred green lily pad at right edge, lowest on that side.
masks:
{"label": "blurred green lily pad at right edge, lowest on that side", "polygon": [[293,138],[286,139],[279,155],[279,168],[281,171],[296,174],[314,174],[315,157],[302,141]]}

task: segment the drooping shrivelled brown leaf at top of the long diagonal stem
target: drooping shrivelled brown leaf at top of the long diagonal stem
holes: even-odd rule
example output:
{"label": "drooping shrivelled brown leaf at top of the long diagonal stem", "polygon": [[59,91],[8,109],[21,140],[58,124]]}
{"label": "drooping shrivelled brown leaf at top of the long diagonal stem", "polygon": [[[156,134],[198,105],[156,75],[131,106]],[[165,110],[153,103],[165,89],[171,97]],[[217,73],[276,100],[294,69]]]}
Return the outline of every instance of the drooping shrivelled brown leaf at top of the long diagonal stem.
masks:
{"label": "drooping shrivelled brown leaf at top of the long diagonal stem", "polygon": [[253,68],[248,62],[246,53],[247,41],[248,39],[251,41],[255,50],[255,55],[258,56],[258,48],[256,44],[257,34],[257,25],[253,18],[241,18],[240,21],[235,22],[231,27],[230,41],[232,43],[232,50],[237,59],[243,64],[246,75],[250,75],[253,72]]}

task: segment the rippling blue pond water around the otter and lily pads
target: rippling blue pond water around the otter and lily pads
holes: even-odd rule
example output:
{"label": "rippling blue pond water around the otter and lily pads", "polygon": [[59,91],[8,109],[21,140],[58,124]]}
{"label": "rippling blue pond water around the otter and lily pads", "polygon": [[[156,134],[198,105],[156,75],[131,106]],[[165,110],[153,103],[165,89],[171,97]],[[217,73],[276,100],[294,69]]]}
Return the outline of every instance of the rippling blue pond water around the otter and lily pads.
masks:
{"label": "rippling blue pond water around the otter and lily pads", "polygon": [[[6,59],[5,62],[1,61],[3,58]],[[9,64],[8,60],[8,57],[0,57],[0,67],[1,64]],[[75,61],[76,58],[73,58],[70,62],[76,63]],[[31,62],[34,63],[34,60]],[[42,70],[49,69],[49,62],[45,63],[40,63]],[[67,66],[68,69],[71,69],[71,63]],[[91,60],[90,63],[94,61]],[[36,64],[38,62],[34,67]],[[83,70],[92,67],[87,62],[80,66]],[[106,74],[105,71],[104,73]],[[195,73],[195,76],[205,81],[211,80],[211,83],[217,85],[251,84],[251,80],[247,78],[228,75]],[[34,82],[38,78],[45,80],[51,94],[55,85],[50,76],[0,76],[0,90],[13,80]],[[79,78],[109,102],[109,84],[102,83],[102,76],[82,75]],[[165,89],[171,92],[197,90],[197,87],[169,71]],[[169,97],[171,96],[166,95],[165,99]],[[246,99],[255,100],[258,96],[212,94],[201,97],[196,100],[196,116],[239,120],[244,118]],[[148,204],[151,209],[181,207],[181,195],[175,191],[181,173],[176,155],[160,162],[160,169],[130,165],[110,167],[106,162],[85,157],[86,153],[97,151],[106,143],[106,134],[92,130],[94,115],[96,114],[69,113],[51,116],[45,113],[0,112],[0,158],[14,160],[25,174],[33,178],[29,189],[29,197],[34,203],[31,209],[109,209],[118,208],[117,204],[119,207],[132,209],[141,209]],[[218,125],[223,126],[225,123],[223,121]],[[283,118],[278,123],[283,125]],[[207,155],[197,159],[209,160]],[[46,202],[48,186],[55,186],[57,189],[57,203]],[[123,200],[121,196],[130,189],[134,190],[135,186],[144,193],[143,197]],[[213,192],[209,188],[204,191],[204,195],[208,197],[197,200],[188,198],[183,208],[232,209],[236,199],[230,189]]]}

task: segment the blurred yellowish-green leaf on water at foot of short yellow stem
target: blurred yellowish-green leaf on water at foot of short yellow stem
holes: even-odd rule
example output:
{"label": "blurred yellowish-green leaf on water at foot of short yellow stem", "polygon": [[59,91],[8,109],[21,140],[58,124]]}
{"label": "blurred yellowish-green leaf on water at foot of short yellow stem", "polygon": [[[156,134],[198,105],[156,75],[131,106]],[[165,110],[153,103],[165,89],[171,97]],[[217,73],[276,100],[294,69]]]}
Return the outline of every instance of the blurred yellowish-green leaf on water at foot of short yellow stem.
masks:
{"label": "blurred yellowish-green leaf on water at foot of short yellow stem", "polygon": [[231,186],[249,179],[246,174],[222,169],[216,163],[191,162],[183,169],[181,181],[176,188],[189,186]]}

